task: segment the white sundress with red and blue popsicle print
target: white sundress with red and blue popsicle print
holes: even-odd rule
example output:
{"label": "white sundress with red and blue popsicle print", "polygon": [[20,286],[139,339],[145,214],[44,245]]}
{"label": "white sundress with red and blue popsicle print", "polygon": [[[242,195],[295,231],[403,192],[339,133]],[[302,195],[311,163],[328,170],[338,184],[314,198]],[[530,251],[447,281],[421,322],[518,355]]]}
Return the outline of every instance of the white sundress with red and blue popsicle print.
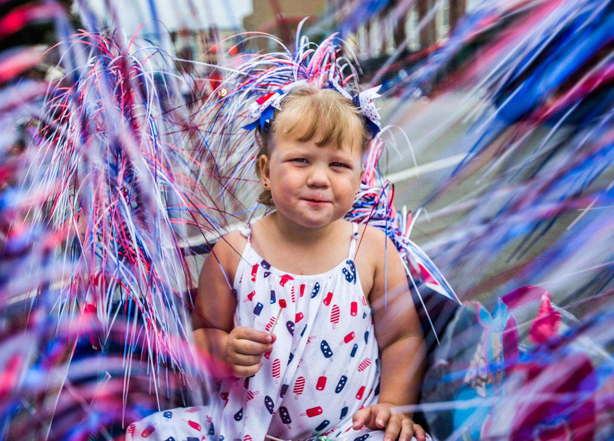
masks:
{"label": "white sundress with red and blue popsicle print", "polygon": [[271,267],[251,247],[251,228],[241,228],[247,245],[233,286],[234,325],[268,332],[285,300],[273,350],[254,376],[219,381],[208,405],[153,413],[128,426],[126,440],[383,440],[384,431],[352,429],[354,412],[379,394],[371,308],[354,265],[357,227],[347,259],[307,276]]}

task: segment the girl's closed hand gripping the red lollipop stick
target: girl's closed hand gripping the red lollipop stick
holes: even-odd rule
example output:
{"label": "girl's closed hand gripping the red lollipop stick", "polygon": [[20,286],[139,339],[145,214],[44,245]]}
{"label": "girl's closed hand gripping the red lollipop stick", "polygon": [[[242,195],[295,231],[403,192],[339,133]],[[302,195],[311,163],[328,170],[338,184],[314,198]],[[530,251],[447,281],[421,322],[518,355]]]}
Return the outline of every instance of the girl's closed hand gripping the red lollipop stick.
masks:
{"label": "girl's closed hand gripping the red lollipop stick", "polygon": [[262,366],[262,354],[273,349],[277,338],[247,326],[233,328],[226,340],[226,359],[235,377],[251,377]]}

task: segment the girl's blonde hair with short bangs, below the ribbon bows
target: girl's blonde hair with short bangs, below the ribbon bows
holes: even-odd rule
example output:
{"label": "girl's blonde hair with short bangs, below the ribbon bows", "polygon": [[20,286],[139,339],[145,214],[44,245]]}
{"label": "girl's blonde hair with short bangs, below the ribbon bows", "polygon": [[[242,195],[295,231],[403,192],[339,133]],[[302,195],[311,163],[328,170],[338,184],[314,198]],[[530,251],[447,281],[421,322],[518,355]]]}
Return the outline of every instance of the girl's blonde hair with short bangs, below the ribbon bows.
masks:
{"label": "girl's blonde hair with short bangs, below the ribbon bows", "polygon": [[[306,127],[303,133],[298,134],[297,141],[311,141],[314,136],[321,134],[321,138],[315,142],[319,147],[334,141],[336,147],[341,149],[343,142],[348,138],[352,147],[359,142],[361,153],[364,153],[369,146],[371,138],[360,109],[352,100],[336,90],[305,85],[284,96],[279,106],[281,111],[275,109],[268,130],[263,131],[258,126],[255,131],[256,142],[260,147],[255,162],[258,178],[260,178],[258,158],[261,155],[269,156],[271,136],[280,129],[284,135],[290,135],[295,130]],[[263,190],[258,197],[258,203],[275,206],[271,191]]]}

